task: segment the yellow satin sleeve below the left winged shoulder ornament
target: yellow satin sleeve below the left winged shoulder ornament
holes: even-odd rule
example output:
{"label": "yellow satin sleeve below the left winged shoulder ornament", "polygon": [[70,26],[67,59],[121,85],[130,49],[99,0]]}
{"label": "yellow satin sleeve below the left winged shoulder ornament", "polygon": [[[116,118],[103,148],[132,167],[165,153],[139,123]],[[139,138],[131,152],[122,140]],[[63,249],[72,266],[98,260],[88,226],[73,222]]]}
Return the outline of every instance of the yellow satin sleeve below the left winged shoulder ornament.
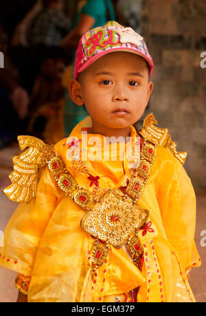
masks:
{"label": "yellow satin sleeve below the left winged shoulder ornament", "polygon": [[4,245],[0,247],[3,267],[31,275],[39,242],[58,203],[58,190],[46,166],[41,171],[36,198],[19,204],[5,228]]}

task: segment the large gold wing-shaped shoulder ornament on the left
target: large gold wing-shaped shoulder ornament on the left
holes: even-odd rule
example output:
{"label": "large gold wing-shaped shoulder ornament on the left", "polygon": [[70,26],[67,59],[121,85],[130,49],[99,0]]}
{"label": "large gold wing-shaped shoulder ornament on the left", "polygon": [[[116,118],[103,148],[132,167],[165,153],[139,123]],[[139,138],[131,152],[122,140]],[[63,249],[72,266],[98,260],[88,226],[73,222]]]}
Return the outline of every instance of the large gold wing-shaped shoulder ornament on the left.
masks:
{"label": "large gold wing-shaped shoulder ornament on the left", "polygon": [[54,156],[54,146],[46,145],[41,139],[33,136],[18,136],[19,148],[25,150],[12,158],[14,171],[9,178],[12,184],[3,190],[11,201],[30,203],[36,196],[38,170],[43,168]]}

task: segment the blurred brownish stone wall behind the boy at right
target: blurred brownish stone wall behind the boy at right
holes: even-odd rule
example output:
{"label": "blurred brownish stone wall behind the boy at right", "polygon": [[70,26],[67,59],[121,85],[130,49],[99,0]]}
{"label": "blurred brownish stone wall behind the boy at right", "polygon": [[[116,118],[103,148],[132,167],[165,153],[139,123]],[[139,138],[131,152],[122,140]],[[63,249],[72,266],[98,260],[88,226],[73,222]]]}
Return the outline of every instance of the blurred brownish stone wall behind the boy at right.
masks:
{"label": "blurred brownish stone wall behind the boy at right", "polygon": [[206,189],[205,0],[142,0],[141,30],[155,63],[147,113],[168,127],[196,190]]}

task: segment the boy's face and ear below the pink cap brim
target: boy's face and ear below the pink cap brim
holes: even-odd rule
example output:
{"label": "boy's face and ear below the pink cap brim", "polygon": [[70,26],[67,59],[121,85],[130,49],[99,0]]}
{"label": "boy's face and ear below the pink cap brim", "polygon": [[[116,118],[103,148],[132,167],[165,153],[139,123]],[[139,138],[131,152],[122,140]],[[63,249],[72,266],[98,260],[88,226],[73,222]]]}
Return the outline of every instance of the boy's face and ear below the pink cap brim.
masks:
{"label": "boy's face and ear below the pink cap brim", "polygon": [[129,52],[106,54],[83,71],[78,82],[73,80],[69,85],[73,101],[84,103],[93,125],[101,126],[105,133],[137,122],[153,87],[144,58]]}

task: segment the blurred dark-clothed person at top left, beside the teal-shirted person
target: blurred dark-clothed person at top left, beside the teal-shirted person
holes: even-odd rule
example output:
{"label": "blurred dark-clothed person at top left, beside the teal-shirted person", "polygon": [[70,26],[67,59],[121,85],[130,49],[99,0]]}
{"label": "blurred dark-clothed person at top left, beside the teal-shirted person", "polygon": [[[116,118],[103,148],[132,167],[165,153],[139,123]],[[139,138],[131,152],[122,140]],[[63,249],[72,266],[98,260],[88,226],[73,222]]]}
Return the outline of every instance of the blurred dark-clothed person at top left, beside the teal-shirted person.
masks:
{"label": "blurred dark-clothed person at top left, beside the teal-shirted person", "polygon": [[[43,8],[33,17],[27,28],[27,43],[30,46],[32,76],[37,76],[42,60],[54,52],[64,55],[60,41],[71,30],[70,19],[62,12],[60,0],[43,0]],[[30,63],[31,66],[31,63]]]}

